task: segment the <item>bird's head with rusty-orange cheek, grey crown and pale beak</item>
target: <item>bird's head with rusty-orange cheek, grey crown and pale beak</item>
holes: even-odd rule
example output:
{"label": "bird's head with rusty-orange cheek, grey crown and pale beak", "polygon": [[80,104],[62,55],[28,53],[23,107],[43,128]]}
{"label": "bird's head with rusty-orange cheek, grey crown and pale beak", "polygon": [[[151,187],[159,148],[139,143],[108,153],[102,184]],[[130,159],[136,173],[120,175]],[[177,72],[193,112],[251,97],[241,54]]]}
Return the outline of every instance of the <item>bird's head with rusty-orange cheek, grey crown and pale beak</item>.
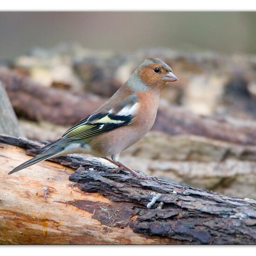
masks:
{"label": "bird's head with rusty-orange cheek, grey crown and pale beak", "polygon": [[137,69],[140,80],[149,87],[163,88],[167,82],[178,81],[173,70],[159,59],[147,59]]}

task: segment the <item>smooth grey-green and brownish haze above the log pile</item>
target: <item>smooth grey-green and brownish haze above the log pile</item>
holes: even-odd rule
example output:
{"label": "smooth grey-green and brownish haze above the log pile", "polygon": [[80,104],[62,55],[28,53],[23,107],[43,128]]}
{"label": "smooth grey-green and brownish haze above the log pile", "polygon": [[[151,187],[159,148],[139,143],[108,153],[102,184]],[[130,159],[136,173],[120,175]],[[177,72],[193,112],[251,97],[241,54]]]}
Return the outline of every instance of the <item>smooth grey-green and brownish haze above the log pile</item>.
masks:
{"label": "smooth grey-green and brownish haze above the log pile", "polygon": [[255,31],[253,12],[9,12],[0,13],[0,57],[60,42],[121,52],[175,47],[256,53]]}

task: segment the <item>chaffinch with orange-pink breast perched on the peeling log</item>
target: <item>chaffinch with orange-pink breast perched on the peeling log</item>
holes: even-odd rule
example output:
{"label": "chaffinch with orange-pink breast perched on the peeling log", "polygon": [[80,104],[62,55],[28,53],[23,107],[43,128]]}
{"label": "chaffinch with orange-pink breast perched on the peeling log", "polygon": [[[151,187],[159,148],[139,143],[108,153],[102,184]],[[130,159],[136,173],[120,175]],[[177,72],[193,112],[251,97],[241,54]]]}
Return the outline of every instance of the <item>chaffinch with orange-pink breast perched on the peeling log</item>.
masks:
{"label": "chaffinch with orange-pink breast perched on the peeling log", "polygon": [[[148,58],[100,108],[68,129],[44,151],[11,170],[11,175],[35,163],[68,154],[90,154],[107,159],[131,177],[146,178],[119,161],[120,153],[148,133],[155,122],[162,89],[177,81],[171,67]],[[111,157],[111,158],[110,158]]]}

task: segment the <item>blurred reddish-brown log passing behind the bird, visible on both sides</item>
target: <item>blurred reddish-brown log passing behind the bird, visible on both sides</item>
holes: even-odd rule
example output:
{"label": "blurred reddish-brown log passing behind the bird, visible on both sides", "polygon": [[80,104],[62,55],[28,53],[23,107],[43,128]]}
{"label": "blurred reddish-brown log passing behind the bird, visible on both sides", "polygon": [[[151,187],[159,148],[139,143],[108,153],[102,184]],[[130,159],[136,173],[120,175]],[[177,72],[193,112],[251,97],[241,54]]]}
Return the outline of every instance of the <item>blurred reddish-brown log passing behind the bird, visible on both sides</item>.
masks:
{"label": "blurred reddish-brown log passing behind the bird, visible on both sides", "polygon": [[[74,125],[105,101],[92,94],[78,95],[63,89],[42,87],[7,69],[0,69],[0,80],[7,89],[16,114],[29,120]],[[222,141],[256,145],[254,121],[202,117],[164,101],[160,104],[153,129],[171,135],[201,135]]]}

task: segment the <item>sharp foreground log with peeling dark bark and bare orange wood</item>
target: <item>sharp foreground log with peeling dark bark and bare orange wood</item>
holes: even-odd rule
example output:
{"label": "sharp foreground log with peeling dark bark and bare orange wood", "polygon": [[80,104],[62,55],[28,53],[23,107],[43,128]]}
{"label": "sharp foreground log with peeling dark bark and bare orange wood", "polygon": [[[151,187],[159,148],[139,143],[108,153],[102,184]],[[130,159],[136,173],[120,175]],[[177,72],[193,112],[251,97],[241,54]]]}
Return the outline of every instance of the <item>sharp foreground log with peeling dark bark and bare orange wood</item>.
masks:
{"label": "sharp foreground log with peeling dark bark and bare orange wood", "polygon": [[36,155],[44,144],[0,136],[0,243],[256,244],[256,201],[248,198],[127,180],[80,155],[5,176],[29,158],[22,148]]}

